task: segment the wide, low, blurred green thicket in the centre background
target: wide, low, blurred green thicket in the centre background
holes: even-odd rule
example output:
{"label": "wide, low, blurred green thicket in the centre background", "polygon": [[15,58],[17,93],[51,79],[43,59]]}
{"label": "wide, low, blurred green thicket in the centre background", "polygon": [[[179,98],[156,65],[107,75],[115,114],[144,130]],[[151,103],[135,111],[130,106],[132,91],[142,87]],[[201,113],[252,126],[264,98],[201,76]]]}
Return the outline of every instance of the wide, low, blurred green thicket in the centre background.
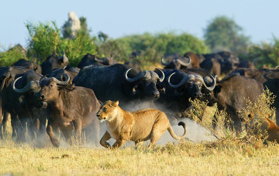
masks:
{"label": "wide, low, blurred green thicket in the centre background", "polygon": [[203,41],[187,33],[181,35],[170,33],[159,33],[152,35],[131,35],[118,39],[107,39],[99,35],[100,47],[98,52],[108,55],[112,52],[118,61],[127,62],[133,51],[140,51],[141,55],[134,58],[141,65],[160,63],[160,58],[164,54],[180,53],[192,51],[195,53],[207,53],[208,47]]}

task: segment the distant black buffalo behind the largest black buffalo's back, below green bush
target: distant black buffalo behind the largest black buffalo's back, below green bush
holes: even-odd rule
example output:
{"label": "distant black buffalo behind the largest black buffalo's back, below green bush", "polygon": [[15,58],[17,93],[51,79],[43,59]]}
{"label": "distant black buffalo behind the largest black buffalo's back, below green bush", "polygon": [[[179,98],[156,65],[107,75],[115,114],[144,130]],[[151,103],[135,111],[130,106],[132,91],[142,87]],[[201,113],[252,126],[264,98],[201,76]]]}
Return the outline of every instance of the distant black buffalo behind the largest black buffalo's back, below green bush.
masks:
{"label": "distant black buffalo behind the largest black buffalo's back, below green bush", "polygon": [[82,68],[85,66],[90,66],[90,65],[113,65],[116,64],[117,62],[113,60],[112,55],[110,57],[105,57],[103,59],[98,58],[97,53],[95,55],[87,53],[80,61],[78,68]]}

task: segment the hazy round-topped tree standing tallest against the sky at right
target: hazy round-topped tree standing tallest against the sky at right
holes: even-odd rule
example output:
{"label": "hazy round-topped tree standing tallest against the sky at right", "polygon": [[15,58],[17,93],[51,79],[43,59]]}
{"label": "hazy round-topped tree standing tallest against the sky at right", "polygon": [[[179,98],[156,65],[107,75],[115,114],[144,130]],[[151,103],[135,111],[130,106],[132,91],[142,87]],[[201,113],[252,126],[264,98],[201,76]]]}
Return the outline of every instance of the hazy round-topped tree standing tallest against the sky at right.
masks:
{"label": "hazy round-topped tree standing tallest against the sky at right", "polygon": [[205,43],[210,46],[212,52],[225,50],[243,53],[251,42],[250,37],[244,36],[242,31],[242,27],[233,19],[217,16],[204,29]]}

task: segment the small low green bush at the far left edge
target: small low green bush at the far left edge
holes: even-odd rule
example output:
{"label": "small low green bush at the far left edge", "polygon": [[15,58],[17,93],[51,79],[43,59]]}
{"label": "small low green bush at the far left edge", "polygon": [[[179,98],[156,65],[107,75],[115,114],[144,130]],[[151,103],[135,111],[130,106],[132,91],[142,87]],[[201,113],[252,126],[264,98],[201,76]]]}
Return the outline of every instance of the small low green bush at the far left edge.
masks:
{"label": "small low green bush at the far left edge", "polygon": [[24,53],[17,48],[9,47],[8,50],[0,44],[0,67],[11,66],[19,59],[25,59]]}

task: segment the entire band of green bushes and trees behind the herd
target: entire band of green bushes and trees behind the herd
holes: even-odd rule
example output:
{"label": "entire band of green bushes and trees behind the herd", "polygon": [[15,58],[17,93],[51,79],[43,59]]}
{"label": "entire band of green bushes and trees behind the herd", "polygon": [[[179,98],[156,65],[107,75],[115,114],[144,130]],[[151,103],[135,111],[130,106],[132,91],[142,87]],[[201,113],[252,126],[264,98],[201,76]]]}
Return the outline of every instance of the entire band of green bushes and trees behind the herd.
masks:
{"label": "entire band of green bushes and trees behind the herd", "polygon": [[[160,58],[164,54],[180,53],[183,55],[189,51],[205,54],[216,52],[218,48],[237,52],[236,48],[240,46],[241,50],[237,53],[240,54],[240,58],[254,61],[257,68],[279,65],[279,39],[275,37],[272,43],[262,42],[259,45],[254,45],[249,44],[248,37],[239,34],[240,39],[234,42],[236,43],[235,45],[237,45],[237,42],[240,43],[238,47],[233,46],[232,42],[227,42],[227,47],[218,46],[222,42],[216,41],[214,43],[213,39],[210,39],[211,43],[209,43],[208,36],[214,36],[213,34],[217,33],[212,29],[214,20],[208,25],[210,30],[207,30],[207,32],[213,33],[207,33],[208,36],[205,34],[206,41],[203,41],[188,33],[176,34],[174,32],[144,33],[141,35],[124,36],[118,39],[109,38],[103,32],[99,32],[97,37],[92,37],[90,36],[90,30],[87,29],[86,18],[81,17],[81,19],[84,27],[77,32],[75,39],[66,38],[64,26],[60,29],[55,22],[40,22],[39,24],[27,22],[25,25],[29,31],[29,36],[26,50],[22,50],[20,47],[11,47],[6,50],[3,46],[0,46],[0,66],[10,66],[22,58],[41,64],[53,52],[58,54],[65,52],[71,66],[77,66],[82,57],[87,53],[94,55],[96,52],[101,57],[112,54],[113,58],[118,62],[124,63],[133,60],[141,66],[145,66],[160,63]],[[233,22],[225,17],[217,17],[215,20],[227,20],[228,23]],[[236,24],[234,23],[234,25]],[[216,30],[220,30],[220,26],[217,26]],[[224,31],[226,32],[227,29]],[[222,35],[225,36],[225,34]],[[237,36],[238,33],[236,32],[234,35]],[[222,40],[222,38],[219,37],[217,39],[216,37],[216,40]],[[229,40],[230,38],[226,38],[226,41]]]}

